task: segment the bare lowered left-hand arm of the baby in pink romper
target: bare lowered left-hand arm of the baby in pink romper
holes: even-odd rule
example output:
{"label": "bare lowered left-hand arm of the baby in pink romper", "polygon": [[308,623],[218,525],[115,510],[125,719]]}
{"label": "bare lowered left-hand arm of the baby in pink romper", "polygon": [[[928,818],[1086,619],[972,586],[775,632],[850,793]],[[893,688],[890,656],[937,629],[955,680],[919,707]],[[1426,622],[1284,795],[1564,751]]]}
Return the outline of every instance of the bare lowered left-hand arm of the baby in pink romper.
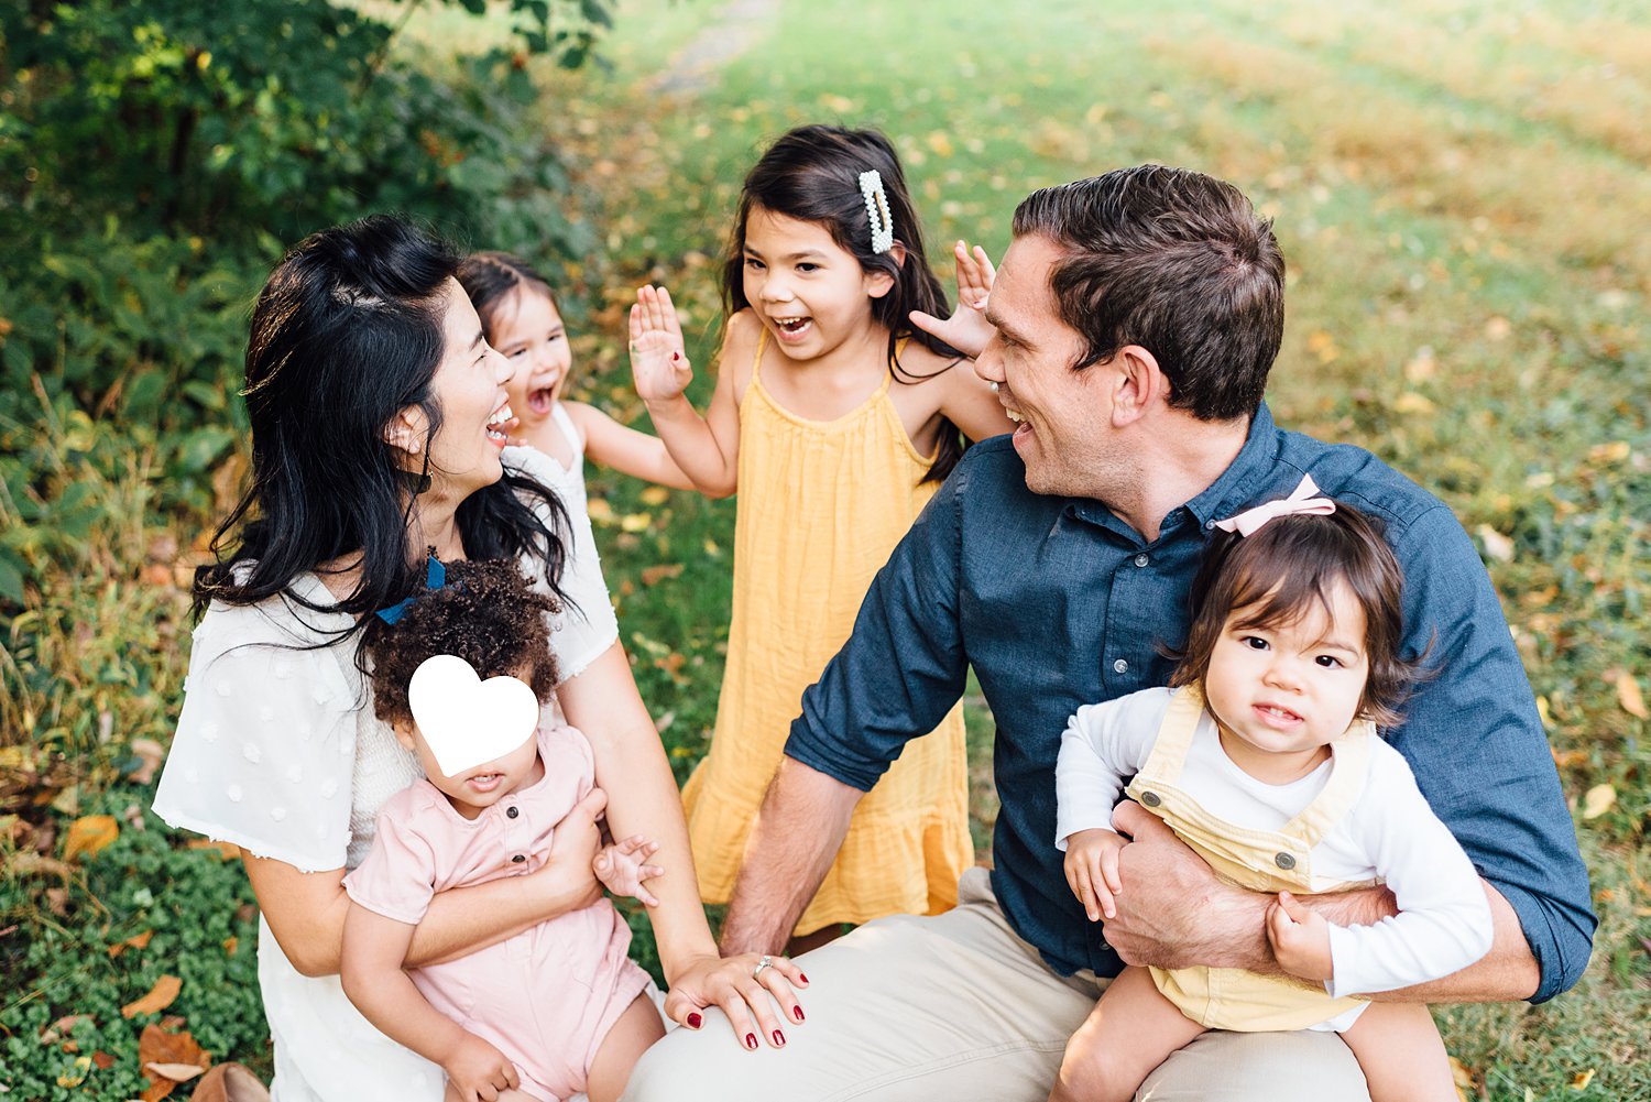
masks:
{"label": "bare lowered left-hand arm of the baby in pink romper", "polygon": [[386,1038],[441,1064],[461,1097],[477,1099],[482,1087],[502,1090],[520,1085],[515,1066],[504,1052],[431,1006],[401,970],[413,929],[350,904],[338,973],[343,993]]}

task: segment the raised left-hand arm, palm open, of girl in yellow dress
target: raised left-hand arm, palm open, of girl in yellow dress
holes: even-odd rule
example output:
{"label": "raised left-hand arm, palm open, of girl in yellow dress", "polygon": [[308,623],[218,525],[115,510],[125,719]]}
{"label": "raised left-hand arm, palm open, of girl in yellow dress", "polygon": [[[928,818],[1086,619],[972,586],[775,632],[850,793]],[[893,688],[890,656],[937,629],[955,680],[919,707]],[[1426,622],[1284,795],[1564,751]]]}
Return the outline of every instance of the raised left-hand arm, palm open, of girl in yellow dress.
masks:
{"label": "raised left-hand arm, palm open, of girl in yellow dress", "polygon": [[[733,324],[728,332],[731,344]],[[665,289],[637,291],[631,307],[631,372],[659,438],[693,487],[708,497],[731,494],[738,482],[740,453],[731,372],[718,375],[710,410],[702,418],[684,395],[693,370]]]}

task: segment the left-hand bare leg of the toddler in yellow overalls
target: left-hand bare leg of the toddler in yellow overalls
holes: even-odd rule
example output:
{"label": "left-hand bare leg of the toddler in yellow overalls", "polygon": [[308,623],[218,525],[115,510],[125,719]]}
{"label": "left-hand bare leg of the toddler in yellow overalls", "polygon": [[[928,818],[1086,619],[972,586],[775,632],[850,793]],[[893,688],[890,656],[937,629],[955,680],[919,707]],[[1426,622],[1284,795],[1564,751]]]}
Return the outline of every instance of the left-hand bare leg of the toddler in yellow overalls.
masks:
{"label": "left-hand bare leg of the toddler in yellow overalls", "polygon": [[1204,1033],[1159,993],[1146,968],[1124,968],[1067,1043],[1048,1102],[1129,1102],[1171,1052]]}

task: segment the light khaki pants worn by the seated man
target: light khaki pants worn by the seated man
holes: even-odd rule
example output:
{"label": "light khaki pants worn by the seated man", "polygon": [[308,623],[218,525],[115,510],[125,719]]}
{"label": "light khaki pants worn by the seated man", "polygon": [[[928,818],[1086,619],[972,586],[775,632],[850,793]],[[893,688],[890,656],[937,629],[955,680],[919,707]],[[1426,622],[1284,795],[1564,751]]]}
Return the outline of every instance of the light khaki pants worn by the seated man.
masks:
{"label": "light khaki pants worn by the seated man", "polygon": [[[801,960],[807,1021],[786,1047],[746,1052],[715,1008],[636,1066],[626,1102],[1043,1102],[1067,1038],[1105,990],[1063,980],[1015,937],[986,869],[958,907],[878,919]],[[776,1008],[778,1018],[778,1008]],[[1369,1102],[1332,1033],[1207,1033],[1171,1056],[1139,1099]]]}

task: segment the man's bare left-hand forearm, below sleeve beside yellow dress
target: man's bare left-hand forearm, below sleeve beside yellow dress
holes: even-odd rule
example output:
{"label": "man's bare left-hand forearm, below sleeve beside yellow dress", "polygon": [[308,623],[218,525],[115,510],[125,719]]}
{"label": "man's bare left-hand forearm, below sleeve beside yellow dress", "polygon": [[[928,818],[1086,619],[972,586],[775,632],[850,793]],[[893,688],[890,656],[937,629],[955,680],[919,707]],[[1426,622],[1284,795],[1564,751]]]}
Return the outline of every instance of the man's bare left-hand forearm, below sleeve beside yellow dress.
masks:
{"label": "man's bare left-hand forearm, below sleeve beside yellow dress", "polygon": [[778,953],[837,859],[859,788],[781,758],[745,844],[721,952]]}

